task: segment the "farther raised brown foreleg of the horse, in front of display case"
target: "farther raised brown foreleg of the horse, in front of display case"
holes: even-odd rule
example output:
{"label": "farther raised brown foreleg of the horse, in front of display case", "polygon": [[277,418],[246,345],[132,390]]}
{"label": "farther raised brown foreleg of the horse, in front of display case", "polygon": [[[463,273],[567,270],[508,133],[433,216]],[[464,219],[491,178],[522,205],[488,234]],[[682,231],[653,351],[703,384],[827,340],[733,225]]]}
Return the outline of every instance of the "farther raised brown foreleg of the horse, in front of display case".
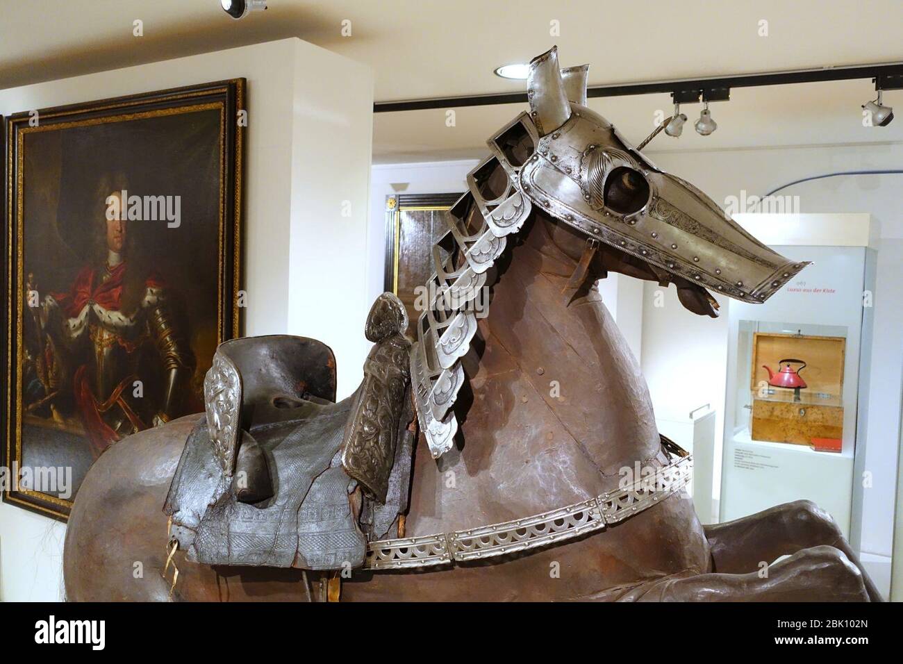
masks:
{"label": "farther raised brown foreleg of the horse, in front of display case", "polygon": [[704,526],[715,572],[745,574],[800,549],[827,545],[856,566],[872,602],[883,599],[831,515],[812,500],[777,505],[749,517]]}

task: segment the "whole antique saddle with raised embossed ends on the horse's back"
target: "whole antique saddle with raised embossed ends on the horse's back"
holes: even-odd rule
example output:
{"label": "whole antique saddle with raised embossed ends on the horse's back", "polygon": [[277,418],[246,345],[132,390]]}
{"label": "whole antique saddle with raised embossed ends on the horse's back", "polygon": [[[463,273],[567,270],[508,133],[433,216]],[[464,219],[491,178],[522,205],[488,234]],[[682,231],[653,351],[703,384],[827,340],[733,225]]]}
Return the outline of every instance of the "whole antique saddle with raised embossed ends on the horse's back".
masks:
{"label": "whole antique saddle with raised embossed ends on the horse's back", "polygon": [[321,341],[219,345],[163,508],[189,560],[339,570],[362,566],[368,541],[399,536],[415,435],[406,327],[404,305],[380,295],[364,379],[338,403]]}

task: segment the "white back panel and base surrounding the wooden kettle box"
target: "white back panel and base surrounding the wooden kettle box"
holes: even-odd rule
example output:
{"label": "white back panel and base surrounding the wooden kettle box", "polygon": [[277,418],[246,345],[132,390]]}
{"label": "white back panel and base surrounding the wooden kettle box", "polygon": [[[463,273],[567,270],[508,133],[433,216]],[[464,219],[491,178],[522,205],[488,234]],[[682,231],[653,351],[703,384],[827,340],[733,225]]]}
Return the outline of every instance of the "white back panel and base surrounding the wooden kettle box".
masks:
{"label": "white back panel and base surrounding the wooden kettle box", "polygon": [[[791,260],[811,260],[765,304],[731,302],[728,380],[721,465],[721,521],[729,521],[792,500],[813,500],[850,536],[854,500],[857,421],[868,386],[861,358],[870,356],[863,322],[870,308],[863,293],[874,259],[876,229],[869,215],[738,215],[742,226]],[[797,245],[797,243],[799,243]],[[805,243],[805,244],[803,244]],[[787,329],[784,329],[787,328]],[[865,324],[866,332],[870,330]],[[843,366],[842,452],[816,452],[797,444],[753,441],[749,435],[751,332],[834,333],[846,338]],[[830,332],[826,332],[830,331]]]}

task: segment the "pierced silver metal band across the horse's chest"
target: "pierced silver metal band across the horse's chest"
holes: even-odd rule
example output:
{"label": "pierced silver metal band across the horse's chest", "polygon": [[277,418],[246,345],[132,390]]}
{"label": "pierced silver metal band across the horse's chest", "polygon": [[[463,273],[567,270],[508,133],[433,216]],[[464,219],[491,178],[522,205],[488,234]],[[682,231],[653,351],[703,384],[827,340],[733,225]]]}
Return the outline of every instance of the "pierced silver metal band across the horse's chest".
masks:
{"label": "pierced silver metal band across the horse's chest", "polygon": [[545,547],[606,528],[647,510],[690,480],[693,457],[684,456],[628,487],[557,510],[491,526],[418,538],[370,542],[365,569],[410,569],[453,565]]}

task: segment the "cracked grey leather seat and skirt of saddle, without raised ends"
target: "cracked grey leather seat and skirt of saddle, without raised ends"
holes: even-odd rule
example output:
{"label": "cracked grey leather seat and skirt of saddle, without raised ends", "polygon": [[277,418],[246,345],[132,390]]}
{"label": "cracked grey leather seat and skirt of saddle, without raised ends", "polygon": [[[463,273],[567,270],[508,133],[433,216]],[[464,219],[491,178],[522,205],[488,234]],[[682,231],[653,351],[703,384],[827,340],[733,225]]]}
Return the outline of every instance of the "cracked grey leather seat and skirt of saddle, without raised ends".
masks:
{"label": "cracked grey leather seat and skirt of saddle, without raised ends", "polygon": [[186,443],[167,499],[172,535],[189,559],[306,569],[362,562],[367,539],[348,500],[354,481],[338,459],[352,401],[349,397],[316,407],[303,419],[250,429],[275,478],[275,495],[254,504],[237,499],[201,420]]}

